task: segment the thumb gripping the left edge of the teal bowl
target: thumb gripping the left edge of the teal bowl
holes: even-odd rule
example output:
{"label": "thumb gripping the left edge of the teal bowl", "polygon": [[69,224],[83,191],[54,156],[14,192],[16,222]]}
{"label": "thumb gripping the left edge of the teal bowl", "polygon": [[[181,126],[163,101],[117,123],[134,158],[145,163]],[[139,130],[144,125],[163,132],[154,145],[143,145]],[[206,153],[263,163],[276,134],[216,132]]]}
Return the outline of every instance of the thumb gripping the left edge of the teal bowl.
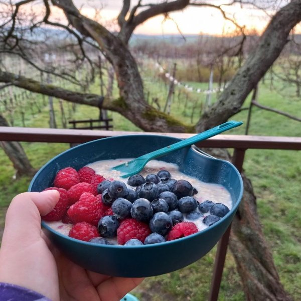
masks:
{"label": "thumb gripping the left edge of the teal bowl", "polygon": [[48,214],[56,205],[60,193],[56,190],[25,192],[17,195],[8,208],[3,243],[30,243],[41,237],[41,215]]}

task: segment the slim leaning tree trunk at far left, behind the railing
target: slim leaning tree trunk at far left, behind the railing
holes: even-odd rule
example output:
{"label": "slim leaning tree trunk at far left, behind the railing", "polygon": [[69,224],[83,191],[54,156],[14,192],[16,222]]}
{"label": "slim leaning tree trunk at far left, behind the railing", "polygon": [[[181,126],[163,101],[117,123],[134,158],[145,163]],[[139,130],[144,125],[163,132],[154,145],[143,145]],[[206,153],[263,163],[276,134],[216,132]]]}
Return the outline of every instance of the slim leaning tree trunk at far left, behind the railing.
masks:
{"label": "slim leaning tree trunk at far left, behind the railing", "polygon": [[[0,126],[9,126],[7,120],[0,115]],[[16,141],[0,141],[1,147],[10,158],[16,170],[16,178],[32,177],[37,171],[30,164],[22,145]]]}

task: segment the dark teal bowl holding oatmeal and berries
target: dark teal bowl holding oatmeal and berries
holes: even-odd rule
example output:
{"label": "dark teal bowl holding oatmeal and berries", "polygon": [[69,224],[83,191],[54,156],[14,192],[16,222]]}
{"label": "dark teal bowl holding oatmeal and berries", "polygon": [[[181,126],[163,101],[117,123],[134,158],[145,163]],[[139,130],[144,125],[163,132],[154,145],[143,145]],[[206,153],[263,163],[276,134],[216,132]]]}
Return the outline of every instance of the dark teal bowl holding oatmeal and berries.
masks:
{"label": "dark teal bowl holding oatmeal and berries", "polygon": [[[181,139],[164,135],[124,135],[87,142],[66,150],[45,164],[35,175],[29,191],[41,192],[53,185],[56,173],[99,160],[136,158]],[[44,222],[51,241],[69,259],[88,270],[119,277],[148,277],[183,268],[207,254],[230,225],[239,206],[243,184],[237,169],[229,162],[212,158],[186,147],[158,160],[174,163],[180,172],[206,182],[224,186],[233,207],[214,225],[193,235],[164,243],[143,246],[99,245],[62,235]]]}

